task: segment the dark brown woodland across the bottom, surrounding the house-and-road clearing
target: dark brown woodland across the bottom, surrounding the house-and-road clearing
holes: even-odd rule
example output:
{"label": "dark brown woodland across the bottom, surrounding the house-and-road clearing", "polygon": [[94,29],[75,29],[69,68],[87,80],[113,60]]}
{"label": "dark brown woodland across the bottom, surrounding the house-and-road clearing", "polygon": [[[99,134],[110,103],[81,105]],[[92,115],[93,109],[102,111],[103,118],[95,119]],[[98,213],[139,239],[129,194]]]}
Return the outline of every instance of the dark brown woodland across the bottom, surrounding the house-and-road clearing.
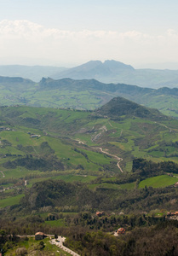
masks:
{"label": "dark brown woodland across the bottom, surrounding the house-and-road clearing", "polygon": [[[3,253],[17,245],[17,235],[34,235],[38,230],[46,234],[66,236],[66,247],[78,252],[81,256],[176,256],[178,255],[177,228],[178,222],[158,221],[151,226],[137,226],[123,236],[115,237],[101,230],[89,230],[83,226],[50,227],[44,225],[39,216],[2,222],[0,226],[0,246]],[[114,226],[114,224],[113,224]],[[12,232],[12,233],[11,233]],[[29,234],[30,233],[30,234]],[[9,234],[12,234],[10,236]],[[21,238],[21,239],[26,239]]]}

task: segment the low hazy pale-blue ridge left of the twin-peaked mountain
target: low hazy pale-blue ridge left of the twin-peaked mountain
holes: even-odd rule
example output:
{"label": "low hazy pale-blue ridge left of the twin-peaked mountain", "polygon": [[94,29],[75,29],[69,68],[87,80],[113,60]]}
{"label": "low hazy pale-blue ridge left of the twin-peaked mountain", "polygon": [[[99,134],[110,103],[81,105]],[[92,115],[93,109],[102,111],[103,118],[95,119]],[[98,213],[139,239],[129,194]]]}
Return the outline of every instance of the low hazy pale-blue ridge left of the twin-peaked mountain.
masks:
{"label": "low hazy pale-blue ridge left of the twin-peaked mountain", "polygon": [[38,82],[43,77],[51,77],[63,70],[66,70],[66,67],[5,65],[0,66],[0,76],[22,77]]}

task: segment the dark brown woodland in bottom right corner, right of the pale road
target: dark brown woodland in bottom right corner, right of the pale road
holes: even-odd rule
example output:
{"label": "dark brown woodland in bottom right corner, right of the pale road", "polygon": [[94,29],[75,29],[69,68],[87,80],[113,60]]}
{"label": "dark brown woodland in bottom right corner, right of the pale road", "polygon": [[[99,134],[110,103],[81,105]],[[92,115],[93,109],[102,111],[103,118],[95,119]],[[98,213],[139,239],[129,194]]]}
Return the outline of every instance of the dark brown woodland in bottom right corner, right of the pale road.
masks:
{"label": "dark brown woodland in bottom right corner, right of the pale road", "polygon": [[154,227],[135,228],[115,237],[98,232],[76,230],[65,242],[82,256],[176,256],[177,222],[162,222]]}

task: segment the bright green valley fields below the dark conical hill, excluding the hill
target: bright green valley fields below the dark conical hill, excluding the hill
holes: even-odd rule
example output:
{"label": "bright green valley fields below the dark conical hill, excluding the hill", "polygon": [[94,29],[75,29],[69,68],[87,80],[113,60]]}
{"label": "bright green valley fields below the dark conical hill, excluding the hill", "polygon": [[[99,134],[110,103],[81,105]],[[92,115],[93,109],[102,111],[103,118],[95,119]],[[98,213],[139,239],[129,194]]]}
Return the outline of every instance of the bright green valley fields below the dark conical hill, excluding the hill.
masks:
{"label": "bright green valley fields below the dark conical hill, excluding the hill", "polygon": [[[136,108],[143,111],[141,106]],[[156,121],[152,112],[158,114]],[[118,158],[123,159],[119,162],[123,172],[131,172],[135,158],[178,162],[178,121],[152,112],[146,118],[127,114],[110,118],[105,113],[72,109],[0,108],[4,127],[0,130],[0,183],[8,187],[14,178],[14,187],[23,189],[24,183],[19,185],[18,181],[26,179],[27,188],[31,188],[34,183],[52,178],[87,183],[90,189],[134,189],[135,183],[91,182],[96,177],[121,175]],[[32,134],[40,137],[31,137]],[[26,164],[29,159],[47,160],[45,165],[50,163],[49,170],[43,169],[45,166],[31,168]],[[140,187],[173,183],[175,178],[167,177],[155,183],[142,181]],[[3,201],[2,204],[8,205]]]}

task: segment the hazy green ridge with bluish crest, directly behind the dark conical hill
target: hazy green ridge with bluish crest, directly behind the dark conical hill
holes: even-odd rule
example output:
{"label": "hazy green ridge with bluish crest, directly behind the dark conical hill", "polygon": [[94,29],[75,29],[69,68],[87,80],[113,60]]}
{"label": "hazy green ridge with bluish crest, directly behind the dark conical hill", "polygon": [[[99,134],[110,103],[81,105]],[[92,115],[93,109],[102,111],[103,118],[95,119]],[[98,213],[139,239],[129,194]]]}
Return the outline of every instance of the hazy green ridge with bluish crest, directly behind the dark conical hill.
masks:
{"label": "hazy green ridge with bluish crest, directly behind the dark conical hill", "polygon": [[2,106],[27,105],[45,108],[94,110],[115,96],[122,96],[162,113],[178,117],[177,88],[158,90],[129,84],[103,84],[95,79],[29,79],[0,77]]}

